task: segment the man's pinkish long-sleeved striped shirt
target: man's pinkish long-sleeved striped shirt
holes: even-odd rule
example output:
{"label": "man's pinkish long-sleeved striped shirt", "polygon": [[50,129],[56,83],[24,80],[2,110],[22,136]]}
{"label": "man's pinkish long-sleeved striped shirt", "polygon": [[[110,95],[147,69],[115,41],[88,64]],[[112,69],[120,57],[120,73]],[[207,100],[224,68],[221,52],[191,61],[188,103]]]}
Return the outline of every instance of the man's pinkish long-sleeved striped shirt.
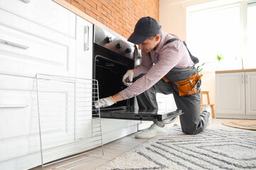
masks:
{"label": "man's pinkish long-sleeved striped shirt", "polygon": [[145,74],[137,79],[131,86],[127,87],[119,94],[125,99],[132,98],[142,94],[151,86],[154,86],[161,78],[163,78],[172,68],[187,68],[193,66],[193,61],[181,40],[166,43],[171,38],[178,38],[174,34],[168,34],[162,31],[161,41],[156,50],[150,52],[150,56],[146,52],[142,52],[142,63],[139,67],[133,69],[134,77],[139,74]]}

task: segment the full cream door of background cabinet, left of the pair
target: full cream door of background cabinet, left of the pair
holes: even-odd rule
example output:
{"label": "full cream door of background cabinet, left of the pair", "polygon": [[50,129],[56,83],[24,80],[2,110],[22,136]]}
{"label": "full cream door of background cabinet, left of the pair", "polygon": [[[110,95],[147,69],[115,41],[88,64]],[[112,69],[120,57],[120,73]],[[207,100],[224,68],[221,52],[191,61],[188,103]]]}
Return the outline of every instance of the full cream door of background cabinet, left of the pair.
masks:
{"label": "full cream door of background cabinet, left of the pair", "polygon": [[245,73],[216,74],[216,115],[245,114]]}

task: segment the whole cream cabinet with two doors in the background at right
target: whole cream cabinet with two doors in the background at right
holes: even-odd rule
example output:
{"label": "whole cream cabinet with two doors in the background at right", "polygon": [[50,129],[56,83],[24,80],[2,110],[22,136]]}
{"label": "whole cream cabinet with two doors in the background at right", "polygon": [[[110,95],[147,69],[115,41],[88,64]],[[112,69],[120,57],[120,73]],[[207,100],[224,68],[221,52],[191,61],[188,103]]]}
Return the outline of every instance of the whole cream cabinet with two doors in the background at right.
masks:
{"label": "whole cream cabinet with two doors in the background at right", "polygon": [[216,118],[256,118],[256,70],[216,72]]}

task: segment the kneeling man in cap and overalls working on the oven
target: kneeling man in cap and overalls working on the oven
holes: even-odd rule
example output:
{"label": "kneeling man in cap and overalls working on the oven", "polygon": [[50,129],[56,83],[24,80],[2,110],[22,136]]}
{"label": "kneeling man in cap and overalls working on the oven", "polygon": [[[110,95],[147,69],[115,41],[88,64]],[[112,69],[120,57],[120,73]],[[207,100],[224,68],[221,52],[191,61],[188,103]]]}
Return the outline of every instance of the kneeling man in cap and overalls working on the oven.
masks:
{"label": "kneeling man in cap and overalls working on the oven", "polygon": [[[176,38],[176,40],[169,42]],[[142,63],[139,67],[128,70],[123,82],[128,87],[114,96],[101,98],[95,107],[106,107],[137,96],[139,108],[158,108],[156,92],[174,94],[180,115],[181,129],[185,134],[196,135],[202,132],[211,119],[210,106],[204,106],[201,113],[201,76],[186,46],[174,34],[161,31],[161,26],[154,18],[143,17],[137,22],[134,33],[128,41],[139,45],[142,50]],[[133,83],[130,82],[136,77]],[[154,122],[147,130],[137,132],[137,138],[150,138],[168,135],[166,125]]]}

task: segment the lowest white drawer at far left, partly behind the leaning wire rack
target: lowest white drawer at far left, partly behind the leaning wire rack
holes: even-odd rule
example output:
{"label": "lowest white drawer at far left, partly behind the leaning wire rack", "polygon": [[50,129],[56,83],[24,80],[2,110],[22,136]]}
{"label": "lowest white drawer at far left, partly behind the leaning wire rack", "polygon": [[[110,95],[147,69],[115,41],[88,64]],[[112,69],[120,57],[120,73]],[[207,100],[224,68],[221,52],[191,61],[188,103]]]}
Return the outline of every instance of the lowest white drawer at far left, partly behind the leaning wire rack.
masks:
{"label": "lowest white drawer at far left, partly behind the leaning wire rack", "polygon": [[0,74],[0,162],[40,149],[35,79]]}

